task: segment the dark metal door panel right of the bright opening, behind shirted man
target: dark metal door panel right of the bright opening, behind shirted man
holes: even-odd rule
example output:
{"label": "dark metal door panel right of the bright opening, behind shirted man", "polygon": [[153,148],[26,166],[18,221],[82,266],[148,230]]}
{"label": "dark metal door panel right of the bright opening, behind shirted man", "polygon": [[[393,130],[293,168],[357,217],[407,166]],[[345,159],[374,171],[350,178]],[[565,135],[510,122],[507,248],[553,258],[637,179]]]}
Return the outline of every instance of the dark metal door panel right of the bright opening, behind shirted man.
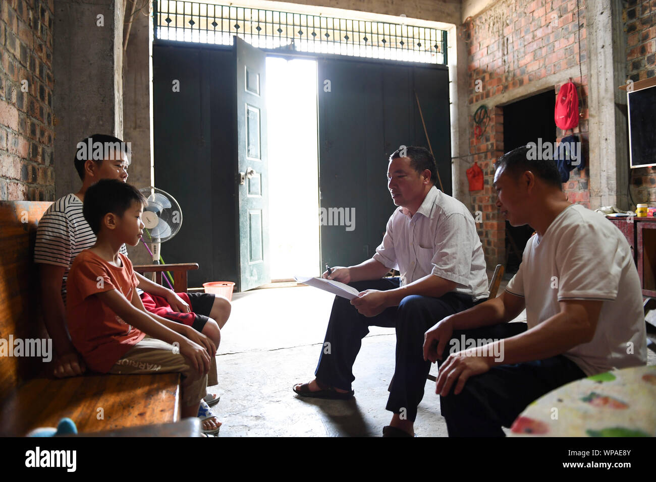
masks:
{"label": "dark metal door panel right of the bright opening, behind shirted man", "polygon": [[451,195],[448,77],[443,66],[353,58],[319,60],[319,206],[324,263],[358,264],[370,258],[382,241],[395,209],[386,184],[388,158],[401,145],[428,147],[415,92],[443,191]]}

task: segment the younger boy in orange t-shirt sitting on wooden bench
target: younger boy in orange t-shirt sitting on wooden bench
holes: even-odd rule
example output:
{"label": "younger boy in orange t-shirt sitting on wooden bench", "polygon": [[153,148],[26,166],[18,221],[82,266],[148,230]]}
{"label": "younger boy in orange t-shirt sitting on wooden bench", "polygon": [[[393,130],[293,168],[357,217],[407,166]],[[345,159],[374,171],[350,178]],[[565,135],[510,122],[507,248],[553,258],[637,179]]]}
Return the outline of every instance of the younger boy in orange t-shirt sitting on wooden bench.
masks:
{"label": "younger boy in orange t-shirt sitting on wooden bench", "polygon": [[[85,195],[83,214],[96,244],[77,255],[68,275],[67,319],[75,349],[98,372],[180,372],[182,416],[203,418],[203,432],[220,422],[201,407],[216,353],[212,340],[192,327],[144,309],[132,263],[119,252],[136,245],[146,199],[119,180],[101,180]],[[206,406],[205,406],[206,407]]]}

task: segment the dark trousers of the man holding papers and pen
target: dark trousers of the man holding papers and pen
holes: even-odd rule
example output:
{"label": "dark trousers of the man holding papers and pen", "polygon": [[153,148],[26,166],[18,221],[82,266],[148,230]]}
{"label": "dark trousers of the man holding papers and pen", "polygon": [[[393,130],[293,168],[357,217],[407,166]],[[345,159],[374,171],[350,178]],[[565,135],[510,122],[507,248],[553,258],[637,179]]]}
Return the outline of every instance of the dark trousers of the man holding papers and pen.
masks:
{"label": "dark trousers of the man holding papers and pen", "polygon": [[[383,278],[373,281],[350,283],[358,291],[367,289],[389,290],[398,288],[399,278]],[[369,327],[396,328],[396,370],[387,402],[389,411],[405,414],[407,420],[415,420],[417,405],[424,396],[426,376],[430,361],[424,361],[424,333],[443,317],[474,306],[470,296],[449,292],[441,298],[411,295],[401,300],[399,306],[386,308],[379,315],[365,317],[346,298],[335,297],[325,342],[321,347],[319,364],[314,372],[319,381],[351,390],[353,364],[361,346],[361,340]]]}

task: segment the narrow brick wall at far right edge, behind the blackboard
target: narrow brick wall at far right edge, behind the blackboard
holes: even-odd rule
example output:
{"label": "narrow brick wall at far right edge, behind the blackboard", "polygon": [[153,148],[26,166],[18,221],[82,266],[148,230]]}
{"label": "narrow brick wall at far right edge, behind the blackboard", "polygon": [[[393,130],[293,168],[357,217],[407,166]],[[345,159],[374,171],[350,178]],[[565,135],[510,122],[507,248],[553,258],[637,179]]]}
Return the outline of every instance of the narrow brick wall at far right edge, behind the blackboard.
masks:
{"label": "narrow brick wall at far right edge, behind the blackboard", "polygon": [[[623,12],[626,31],[626,74],[632,81],[656,73],[656,1],[628,0]],[[656,166],[631,169],[630,190],[636,203],[656,206]]]}

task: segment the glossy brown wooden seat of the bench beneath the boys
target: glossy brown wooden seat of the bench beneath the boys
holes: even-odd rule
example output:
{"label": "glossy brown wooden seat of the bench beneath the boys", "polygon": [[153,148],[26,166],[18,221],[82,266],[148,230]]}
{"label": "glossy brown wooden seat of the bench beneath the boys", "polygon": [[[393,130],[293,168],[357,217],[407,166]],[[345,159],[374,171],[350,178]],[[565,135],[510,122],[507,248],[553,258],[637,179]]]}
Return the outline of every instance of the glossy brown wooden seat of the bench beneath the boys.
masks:
{"label": "glossy brown wooden seat of the bench beneath the boys", "polygon": [[0,435],[56,427],[62,417],[73,420],[78,432],[177,422],[179,378],[177,373],[36,378],[3,402]]}

